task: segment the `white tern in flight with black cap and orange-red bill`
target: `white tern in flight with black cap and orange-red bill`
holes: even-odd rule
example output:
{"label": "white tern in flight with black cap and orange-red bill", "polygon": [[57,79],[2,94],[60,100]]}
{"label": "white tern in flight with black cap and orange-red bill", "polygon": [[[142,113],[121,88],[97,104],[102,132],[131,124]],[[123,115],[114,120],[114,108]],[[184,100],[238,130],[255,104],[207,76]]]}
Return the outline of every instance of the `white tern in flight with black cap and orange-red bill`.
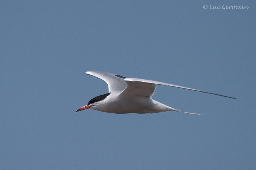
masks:
{"label": "white tern in flight with black cap and orange-red bill", "polygon": [[[188,87],[178,86],[174,84],[162,83],[159,81],[137,79],[137,78],[125,78],[121,75],[99,72],[99,71],[88,71],[88,75],[95,76],[105,81],[108,85],[108,93],[100,95],[91,99],[87,105],[78,109],[82,111],[85,109],[94,109],[101,112],[108,113],[158,113],[167,111],[183,112],[158,101],[152,99],[155,92],[156,85],[165,85],[178,87],[182,89],[194,90],[203,93],[234,98],[206,91],[191,89]],[[234,98],[236,99],[236,98]],[[190,113],[190,112],[183,112]],[[190,113],[197,114],[198,113]]]}

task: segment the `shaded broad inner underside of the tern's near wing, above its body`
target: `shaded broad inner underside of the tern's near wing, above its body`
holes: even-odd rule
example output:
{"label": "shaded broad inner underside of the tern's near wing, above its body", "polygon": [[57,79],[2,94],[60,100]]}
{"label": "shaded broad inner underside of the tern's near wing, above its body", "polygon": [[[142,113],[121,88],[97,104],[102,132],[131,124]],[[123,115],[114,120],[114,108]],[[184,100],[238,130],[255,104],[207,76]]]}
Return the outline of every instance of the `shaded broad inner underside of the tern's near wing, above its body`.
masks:
{"label": "shaded broad inner underside of the tern's near wing, above its body", "polygon": [[155,92],[156,84],[144,83],[142,81],[129,81],[124,79],[127,83],[127,88],[120,94],[125,97],[148,97],[151,98]]}

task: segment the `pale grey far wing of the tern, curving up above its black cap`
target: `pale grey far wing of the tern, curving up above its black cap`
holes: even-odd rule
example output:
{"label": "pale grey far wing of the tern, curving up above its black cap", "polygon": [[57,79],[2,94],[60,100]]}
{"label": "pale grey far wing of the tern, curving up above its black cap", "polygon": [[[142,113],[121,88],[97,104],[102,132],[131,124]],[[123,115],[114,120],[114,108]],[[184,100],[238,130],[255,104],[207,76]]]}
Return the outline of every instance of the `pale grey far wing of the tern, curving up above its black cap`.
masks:
{"label": "pale grey far wing of the tern, curving up above its black cap", "polygon": [[88,71],[86,74],[92,75],[105,81],[108,85],[108,92],[122,92],[127,87],[127,84],[124,81],[125,77],[122,77],[121,75],[99,71]]}

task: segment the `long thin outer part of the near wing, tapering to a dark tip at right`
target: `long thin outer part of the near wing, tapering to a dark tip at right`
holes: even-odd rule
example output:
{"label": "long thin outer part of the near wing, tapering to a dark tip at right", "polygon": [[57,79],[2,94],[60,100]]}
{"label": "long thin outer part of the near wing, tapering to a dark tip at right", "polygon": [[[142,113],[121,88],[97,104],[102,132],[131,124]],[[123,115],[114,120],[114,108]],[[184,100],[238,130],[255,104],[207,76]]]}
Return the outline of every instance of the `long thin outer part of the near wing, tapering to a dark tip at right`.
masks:
{"label": "long thin outer part of the near wing, tapering to a dark tip at right", "polygon": [[[218,95],[218,96],[223,96],[223,97],[228,97],[228,98],[234,98],[234,97],[219,95],[219,94],[215,94],[215,93],[211,93],[211,92],[206,92],[206,91],[191,89],[191,88],[188,88],[188,87],[178,86],[178,85],[169,84],[169,83],[162,83],[162,82],[153,81],[153,80],[144,80],[144,79],[136,79],[136,78],[126,78],[126,79],[124,79],[124,81],[126,81],[127,83],[131,81],[131,82],[143,82],[143,83],[151,83],[151,84],[159,84],[159,85],[165,85],[165,86],[172,86],[172,87],[178,87],[178,88],[182,88],[182,89],[188,89],[188,90],[194,90],[194,91],[199,91],[199,92],[203,92],[203,93],[208,93],[208,94],[212,94],[212,95]],[[153,94],[152,94],[152,95],[153,95]],[[237,99],[237,98],[234,98],[234,99]]]}

